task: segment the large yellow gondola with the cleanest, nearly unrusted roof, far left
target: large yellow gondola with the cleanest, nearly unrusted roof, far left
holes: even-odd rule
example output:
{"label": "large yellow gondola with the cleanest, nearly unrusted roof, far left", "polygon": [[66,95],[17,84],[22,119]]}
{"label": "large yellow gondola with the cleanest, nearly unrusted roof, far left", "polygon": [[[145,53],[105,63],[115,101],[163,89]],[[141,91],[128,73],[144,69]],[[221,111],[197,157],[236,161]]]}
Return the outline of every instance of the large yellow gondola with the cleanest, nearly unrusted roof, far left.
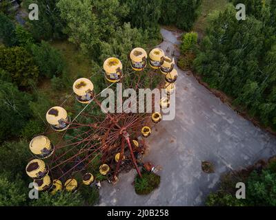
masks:
{"label": "large yellow gondola with the cleanest, nearly unrusted roof, far left", "polygon": [[41,159],[50,157],[54,153],[55,147],[51,144],[48,137],[38,135],[30,141],[30,151]]}

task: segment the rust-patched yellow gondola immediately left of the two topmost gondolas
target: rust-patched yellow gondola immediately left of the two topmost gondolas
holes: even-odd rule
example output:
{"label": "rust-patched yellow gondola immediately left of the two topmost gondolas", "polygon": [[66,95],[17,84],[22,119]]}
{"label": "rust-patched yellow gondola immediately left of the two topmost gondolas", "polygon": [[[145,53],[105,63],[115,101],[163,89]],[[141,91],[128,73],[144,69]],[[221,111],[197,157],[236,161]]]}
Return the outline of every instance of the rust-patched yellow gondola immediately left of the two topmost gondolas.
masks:
{"label": "rust-patched yellow gondola immediately left of the two topmost gondolas", "polygon": [[123,76],[123,65],[118,58],[110,57],[103,63],[103,69],[106,72],[106,79],[110,83],[117,83]]}

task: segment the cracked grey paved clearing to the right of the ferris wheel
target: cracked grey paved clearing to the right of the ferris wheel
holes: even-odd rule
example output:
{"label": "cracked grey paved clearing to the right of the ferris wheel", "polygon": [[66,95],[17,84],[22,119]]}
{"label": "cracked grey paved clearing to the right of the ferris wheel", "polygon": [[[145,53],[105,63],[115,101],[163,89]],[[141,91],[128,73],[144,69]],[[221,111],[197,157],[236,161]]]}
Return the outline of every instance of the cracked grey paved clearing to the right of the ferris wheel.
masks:
{"label": "cracked grey paved clearing to the right of the ferris wheel", "polygon": [[[173,51],[177,34],[161,30],[161,48]],[[193,76],[177,68],[176,118],[155,126],[144,158],[162,166],[160,187],[151,195],[135,194],[136,173],[120,175],[117,185],[103,184],[100,206],[200,206],[219,176],[276,154],[276,137],[255,127],[215,97]],[[215,173],[201,171],[201,161]]]}

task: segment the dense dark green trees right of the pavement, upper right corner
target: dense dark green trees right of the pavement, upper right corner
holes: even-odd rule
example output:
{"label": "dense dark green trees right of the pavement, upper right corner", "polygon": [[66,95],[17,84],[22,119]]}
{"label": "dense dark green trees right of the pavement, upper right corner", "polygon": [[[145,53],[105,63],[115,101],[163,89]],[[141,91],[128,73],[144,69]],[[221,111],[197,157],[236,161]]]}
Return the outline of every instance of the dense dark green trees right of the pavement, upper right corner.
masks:
{"label": "dense dark green trees right of the pavement, upper right corner", "polygon": [[[235,18],[237,3],[246,4],[245,21]],[[194,65],[212,88],[233,104],[276,129],[276,2],[233,1],[210,17]]]}

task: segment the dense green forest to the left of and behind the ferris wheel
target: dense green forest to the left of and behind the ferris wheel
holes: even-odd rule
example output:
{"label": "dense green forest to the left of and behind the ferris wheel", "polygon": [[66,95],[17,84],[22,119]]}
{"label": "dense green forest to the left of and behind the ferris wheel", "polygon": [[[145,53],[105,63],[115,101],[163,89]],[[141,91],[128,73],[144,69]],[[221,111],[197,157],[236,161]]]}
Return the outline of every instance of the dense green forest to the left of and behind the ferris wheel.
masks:
{"label": "dense green forest to the left of and behind the ferris wheel", "polygon": [[30,3],[39,5],[39,20],[26,17],[24,24],[8,0],[0,4],[0,206],[93,205],[96,188],[28,199],[28,142],[45,131],[46,111],[71,93],[74,80],[92,74],[102,89],[98,71],[108,56],[126,61],[133,47],[154,47],[161,41],[160,24],[190,30],[201,1],[25,0],[21,8],[29,12]]}

